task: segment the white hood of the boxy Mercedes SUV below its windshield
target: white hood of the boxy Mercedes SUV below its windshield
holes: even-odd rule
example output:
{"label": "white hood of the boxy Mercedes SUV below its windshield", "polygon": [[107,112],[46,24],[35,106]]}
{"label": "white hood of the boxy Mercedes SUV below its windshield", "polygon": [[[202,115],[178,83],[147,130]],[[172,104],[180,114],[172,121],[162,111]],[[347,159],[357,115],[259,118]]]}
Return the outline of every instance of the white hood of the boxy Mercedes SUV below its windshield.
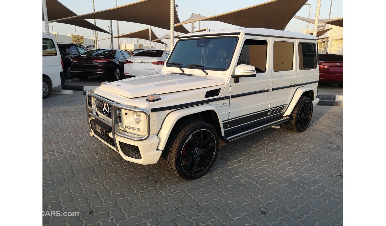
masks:
{"label": "white hood of the boxy Mercedes SUV below its windshield", "polygon": [[225,84],[223,80],[216,77],[158,72],[107,83],[99,88],[124,97],[135,98],[146,97],[152,93],[179,92],[223,84]]}

